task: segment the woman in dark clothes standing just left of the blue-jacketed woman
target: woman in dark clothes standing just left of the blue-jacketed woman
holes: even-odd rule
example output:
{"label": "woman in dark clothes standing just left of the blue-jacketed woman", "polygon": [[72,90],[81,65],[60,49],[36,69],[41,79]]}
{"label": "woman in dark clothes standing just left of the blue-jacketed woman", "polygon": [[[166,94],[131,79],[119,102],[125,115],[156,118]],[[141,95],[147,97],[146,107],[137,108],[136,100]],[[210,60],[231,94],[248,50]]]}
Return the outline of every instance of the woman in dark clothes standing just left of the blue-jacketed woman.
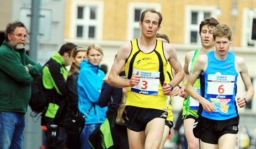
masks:
{"label": "woman in dark clothes standing just left of the blue-jacketed woman", "polygon": [[71,53],[71,67],[69,69],[68,78],[66,81],[66,90],[68,96],[67,114],[64,121],[64,128],[68,135],[68,148],[69,149],[80,149],[80,133],[70,132],[67,127],[71,122],[71,117],[79,115],[78,109],[78,94],[77,94],[77,80],[80,72],[79,64],[86,57],[86,49],[84,47],[76,47]]}

